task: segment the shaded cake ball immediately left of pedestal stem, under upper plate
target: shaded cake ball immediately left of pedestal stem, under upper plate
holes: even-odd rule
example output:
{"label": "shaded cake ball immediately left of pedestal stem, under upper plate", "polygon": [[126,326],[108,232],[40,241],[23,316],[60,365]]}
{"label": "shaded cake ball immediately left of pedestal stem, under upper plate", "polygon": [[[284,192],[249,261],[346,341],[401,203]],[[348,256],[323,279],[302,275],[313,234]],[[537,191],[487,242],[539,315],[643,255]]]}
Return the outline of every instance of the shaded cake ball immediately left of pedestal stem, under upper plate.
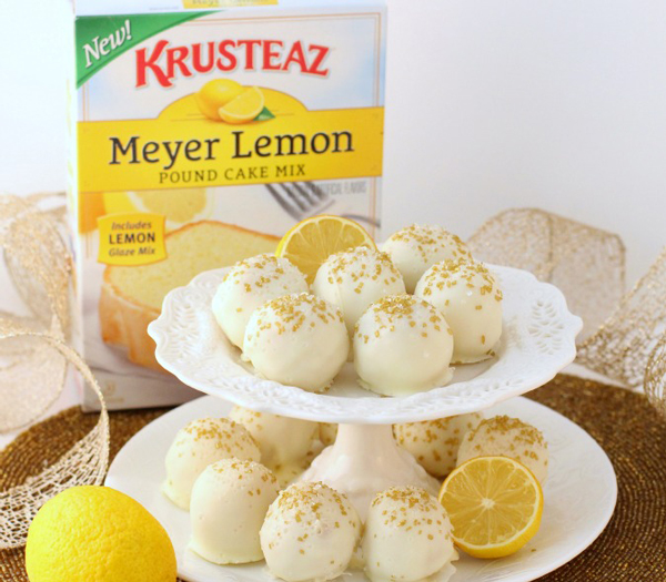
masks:
{"label": "shaded cake ball immediately left of pedestal stem, under upper plate", "polygon": [[234,406],[229,418],[243,425],[259,445],[261,462],[271,470],[301,464],[319,438],[319,422],[255,412]]}

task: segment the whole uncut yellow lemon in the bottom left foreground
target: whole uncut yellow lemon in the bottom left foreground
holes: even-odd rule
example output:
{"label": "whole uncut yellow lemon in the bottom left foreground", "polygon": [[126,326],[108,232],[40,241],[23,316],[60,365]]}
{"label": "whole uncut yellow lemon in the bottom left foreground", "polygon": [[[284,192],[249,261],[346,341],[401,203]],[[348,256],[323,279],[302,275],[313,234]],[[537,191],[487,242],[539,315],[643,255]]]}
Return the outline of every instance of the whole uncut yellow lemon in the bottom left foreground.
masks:
{"label": "whole uncut yellow lemon in the bottom left foreground", "polygon": [[174,582],[175,553],[141,503],[108,487],[72,487],[28,531],[30,582]]}

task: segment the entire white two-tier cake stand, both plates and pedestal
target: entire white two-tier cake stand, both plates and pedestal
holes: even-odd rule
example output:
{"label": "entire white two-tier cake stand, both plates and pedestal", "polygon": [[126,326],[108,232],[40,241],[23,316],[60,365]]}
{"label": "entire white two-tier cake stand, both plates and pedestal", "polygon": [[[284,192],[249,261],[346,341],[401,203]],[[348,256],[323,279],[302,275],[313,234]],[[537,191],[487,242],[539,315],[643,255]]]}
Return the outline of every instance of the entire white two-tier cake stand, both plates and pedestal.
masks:
{"label": "entire white two-tier cake stand, both plates and pedestal", "polygon": [[[139,432],[114,460],[108,484],[138,499],[162,522],[176,549],[183,579],[266,582],[271,575],[263,563],[219,566],[188,550],[189,514],[160,492],[167,450],[185,423],[225,415],[230,402],[339,423],[335,443],[324,449],[301,479],[324,481],[345,492],[363,517],[372,497],[389,487],[415,484],[434,494],[440,487],[396,446],[392,423],[492,409],[490,413],[508,413],[534,423],[548,441],[542,528],[527,549],[514,557],[490,562],[463,557],[452,580],[528,581],[557,568],[592,543],[607,523],[615,506],[615,474],[603,450],[581,428],[546,407],[513,397],[543,386],[573,361],[582,321],[568,312],[554,286],[523,270],[491,268],[505,297],[496,357],[458,367],[447,386],[398,398],[381,398],[361,389],[351,364],[325,395],[258,377],[226,340],[210,307],[226,269],[199,275],[167,296],[149,333],[157,344],[158,361],[210,397],[184,405]],[[363,579],[362,573],[352,576]]]}

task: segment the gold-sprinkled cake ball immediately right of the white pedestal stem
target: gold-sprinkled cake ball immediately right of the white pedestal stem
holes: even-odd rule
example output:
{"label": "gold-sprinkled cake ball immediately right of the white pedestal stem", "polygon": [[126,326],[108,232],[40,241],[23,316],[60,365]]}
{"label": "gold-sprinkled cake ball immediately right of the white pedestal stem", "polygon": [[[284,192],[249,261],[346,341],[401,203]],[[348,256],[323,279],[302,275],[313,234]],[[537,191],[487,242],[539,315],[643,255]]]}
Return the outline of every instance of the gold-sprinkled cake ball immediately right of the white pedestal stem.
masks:
{"label": "gold-sprinkled cake ball immediately right of the white pedestal stem", "polygon": [[418,464],[437,479],[455,469],[463,437],[483,420],[478,412],[437,418],[424,422],[393,425],[397,443],[408,450]]}

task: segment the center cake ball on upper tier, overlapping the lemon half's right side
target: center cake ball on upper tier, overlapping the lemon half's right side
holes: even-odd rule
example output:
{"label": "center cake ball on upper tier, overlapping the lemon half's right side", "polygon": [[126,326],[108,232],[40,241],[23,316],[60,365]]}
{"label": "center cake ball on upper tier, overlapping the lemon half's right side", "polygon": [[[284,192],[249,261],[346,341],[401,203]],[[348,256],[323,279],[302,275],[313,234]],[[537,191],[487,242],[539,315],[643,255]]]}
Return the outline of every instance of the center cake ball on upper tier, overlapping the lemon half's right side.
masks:
{"label": "center cake ball on upper tier, overlapping the lemon half's right side", "polygon": [[312,292],[340,307],[351,336],[372,303],[404,294],[405,284],[386,253],[357,246],[331,255],[316,272]]}

